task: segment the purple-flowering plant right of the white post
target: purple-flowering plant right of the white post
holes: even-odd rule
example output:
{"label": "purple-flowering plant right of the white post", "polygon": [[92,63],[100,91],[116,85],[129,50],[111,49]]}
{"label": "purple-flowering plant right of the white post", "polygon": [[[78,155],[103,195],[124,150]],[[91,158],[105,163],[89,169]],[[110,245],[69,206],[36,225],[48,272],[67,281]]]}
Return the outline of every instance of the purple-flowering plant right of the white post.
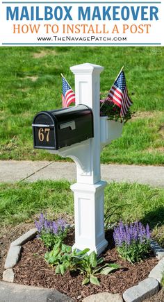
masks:
{"label": "purple-flowering plant right of the white post", "polygon": [[120,256],[131,263],[138,262],[146,257],[150,250],[149,225],[146,228],[141,222],[136,221],[127,225],[120,221],[114,227],[113,237]]}

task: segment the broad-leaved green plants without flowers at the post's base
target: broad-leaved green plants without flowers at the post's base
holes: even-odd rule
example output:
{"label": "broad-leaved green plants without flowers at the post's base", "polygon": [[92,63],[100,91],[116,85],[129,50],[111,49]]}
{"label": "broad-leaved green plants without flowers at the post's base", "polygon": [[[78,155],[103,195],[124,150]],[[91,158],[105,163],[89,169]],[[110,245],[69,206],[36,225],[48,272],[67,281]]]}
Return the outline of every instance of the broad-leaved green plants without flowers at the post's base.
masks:
{"label": "broad-leaved green plants without flowers at the post's base", "polygon": [[90,249],[83,251],[74,249],[72,251],[70,246],[58,242],[51,252],[44,255],[44,258],[49,265],[56,267],[56,274],[63,275],[67,270],[79,271],[84,277],[82,285],[88,283],[99,285],[98,274],[108,275],[111,271],[120,268],[115,263],[105,263],[100,267],[99,265],[104,262],[104,258],[97,258],[95,251],[88,255],[88,251]]}

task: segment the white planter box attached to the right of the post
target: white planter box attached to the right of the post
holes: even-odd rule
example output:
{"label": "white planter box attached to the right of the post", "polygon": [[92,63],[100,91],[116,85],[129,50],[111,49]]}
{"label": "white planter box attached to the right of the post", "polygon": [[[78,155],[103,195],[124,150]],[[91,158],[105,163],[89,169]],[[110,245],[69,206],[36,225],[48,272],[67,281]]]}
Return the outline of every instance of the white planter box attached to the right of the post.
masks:
{"label": "white planter box attached to the right of the post", "polygon": [[100,141],[101,144],[110,144],[112,140],[122,135],[124,123],[120,121],[110,121],[108,117],[100,117]]}

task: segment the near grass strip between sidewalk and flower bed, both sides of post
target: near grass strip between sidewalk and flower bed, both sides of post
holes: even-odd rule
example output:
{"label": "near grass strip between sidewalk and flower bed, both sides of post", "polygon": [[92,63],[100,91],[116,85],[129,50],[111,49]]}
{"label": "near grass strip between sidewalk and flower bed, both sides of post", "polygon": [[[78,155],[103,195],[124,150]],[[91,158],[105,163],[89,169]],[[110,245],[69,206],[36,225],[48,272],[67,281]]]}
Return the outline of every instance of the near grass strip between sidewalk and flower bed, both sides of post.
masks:
{"label": "near grass strip between sidewalk and flower bed, both sides of post", "polygon": [[[123,221],[141,220],[155,228],[164,224],[164,190],[137,183],[110,183],[105,190],[105,210],[124,204]],[[73,215],[73,193],[68,181],[6,183],[0,186],[0,226],[19,224],[40,212]]]}

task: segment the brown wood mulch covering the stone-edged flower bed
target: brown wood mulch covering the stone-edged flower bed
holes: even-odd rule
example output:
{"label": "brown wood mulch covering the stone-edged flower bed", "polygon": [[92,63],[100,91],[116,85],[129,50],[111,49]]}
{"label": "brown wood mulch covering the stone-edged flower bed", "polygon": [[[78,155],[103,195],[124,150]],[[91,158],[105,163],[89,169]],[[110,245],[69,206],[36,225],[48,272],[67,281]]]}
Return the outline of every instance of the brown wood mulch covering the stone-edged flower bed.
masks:
{"label": "brown wood mulch covering the stone-edged flower bed", "polygon": [[[107,234],[106,239],[112,242],[111,233]],[[66,243],[72,245],[73,242],[74,232],[69,233]],[[69,274],[69,271],[67,271],[64,276],[60,274],[56,275],[54,269],[49,267],[44,261],[44,253],[47,249],[40,240],[34,239],[24,244],[22,248],[21,258],[14,268],[15,283],[56,288],[56,290],[74,298],[75,301],[82,301],[85,296],[97,294],[98,292],[122,294],[127,288],[137,285],[138,282],[147,278],[151,269],[158,262],[151,254],[146,260],[131,265],[131,263],[119,257],[113,246],[113,242],[108,248],[102,255],[105,261],[110,263],[115,262],[122,268],[112,272],[108,276],[99,275],[100,286],[82,286],[83,276],[79,274]]]}

